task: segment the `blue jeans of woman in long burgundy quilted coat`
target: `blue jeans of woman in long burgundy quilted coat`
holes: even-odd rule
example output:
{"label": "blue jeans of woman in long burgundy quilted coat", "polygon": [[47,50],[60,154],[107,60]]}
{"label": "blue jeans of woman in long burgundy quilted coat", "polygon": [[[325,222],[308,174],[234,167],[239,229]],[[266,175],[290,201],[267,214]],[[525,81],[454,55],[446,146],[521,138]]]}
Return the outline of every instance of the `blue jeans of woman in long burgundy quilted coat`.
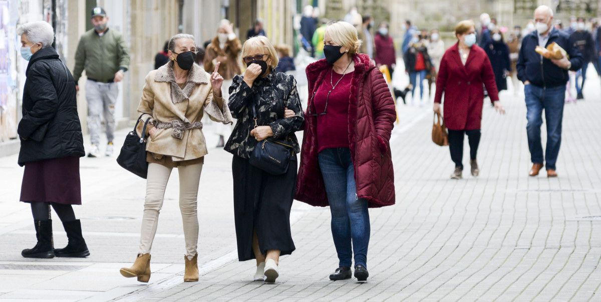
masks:
{"label": "blue jeans of woman in long burgundy quilted coat", "polygon": [[325,149],[317,157],[332,213],[332,237],[339,266],[350,267],[352,252],[355,252],[355,265],[361,264],[367,268],[370,214],[367,200],[357,198],[350,149]]}

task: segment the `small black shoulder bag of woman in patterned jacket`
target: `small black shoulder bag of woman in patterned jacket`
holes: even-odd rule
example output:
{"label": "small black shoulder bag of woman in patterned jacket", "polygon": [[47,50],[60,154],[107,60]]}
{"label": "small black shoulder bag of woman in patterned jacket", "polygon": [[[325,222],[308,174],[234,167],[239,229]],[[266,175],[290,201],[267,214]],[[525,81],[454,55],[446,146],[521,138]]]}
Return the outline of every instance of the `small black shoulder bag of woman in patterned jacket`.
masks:
{"label": "small black shoulder bag of woman in patterned jacket", "polygon": [[[252,118],[257,124],[257,104],[252,106]],[[269,174],[281,175],[288,171],[290,159],[294,157],[294,147],[287,140],[264,139],[257,142],[248,162]]]}

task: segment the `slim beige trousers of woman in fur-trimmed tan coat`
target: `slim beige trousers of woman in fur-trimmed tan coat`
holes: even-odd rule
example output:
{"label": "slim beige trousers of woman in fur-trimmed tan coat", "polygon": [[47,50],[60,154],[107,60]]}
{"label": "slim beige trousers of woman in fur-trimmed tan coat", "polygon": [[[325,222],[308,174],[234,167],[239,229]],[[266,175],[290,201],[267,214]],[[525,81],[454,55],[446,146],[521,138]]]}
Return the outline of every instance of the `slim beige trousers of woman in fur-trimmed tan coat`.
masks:
{"label": "slim beige trousers of woman in fur-trimmed tan coat", "polygon": [[[146,201],[140,234],[139,253],[141,254],[150,253],[171,170],[172,168],[158,163],[148,164]],[[196,254],[198,245],[197,196],[203,164],[178,166],[177,171],[180,176],[180,211],[186,241],[186,256],[191,259]]]}

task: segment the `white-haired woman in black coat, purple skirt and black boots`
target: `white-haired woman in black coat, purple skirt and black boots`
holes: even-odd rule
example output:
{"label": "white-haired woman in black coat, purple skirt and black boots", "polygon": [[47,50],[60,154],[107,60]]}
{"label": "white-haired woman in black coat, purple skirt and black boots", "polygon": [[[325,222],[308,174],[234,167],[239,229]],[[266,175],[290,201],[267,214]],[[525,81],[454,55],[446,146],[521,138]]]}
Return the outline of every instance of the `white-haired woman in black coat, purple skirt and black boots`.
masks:
{"label": "white-haired woman in black coat, purple skirt and black boots", "polygon": [[[31,204],[37,244],[25,258],[90,255],[72,205],[81,205],[79,157],[85,156],[75,81],[52,47],[52,26],[43,21],[17,29],[21,56],[29,61],[23,88],[19,165],[25,166],[20,201]],[[63,222],[69,244],[54,249],[50,206]]]}

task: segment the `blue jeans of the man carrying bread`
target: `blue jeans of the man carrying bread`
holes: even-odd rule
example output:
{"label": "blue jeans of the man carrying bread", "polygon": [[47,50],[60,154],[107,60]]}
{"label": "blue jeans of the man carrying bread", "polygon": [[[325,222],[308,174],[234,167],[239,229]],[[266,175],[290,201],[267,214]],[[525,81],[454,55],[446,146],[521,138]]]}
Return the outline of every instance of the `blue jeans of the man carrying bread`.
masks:
{"label": "blue jeans of the man carrying bread", "polygon": [[[547,169],[555,170],[557,155],[561,145],[561,121],[563,106],[566,99],[566,86],[543,88],[532,84],[524,87],[526,95],[526,132],[528,133],[528,148],[532,163],[546,162]],[[547,125],[547,149],[543,161],[543,146],[540,140],[540,126],[543,124],[542,113],[545,110]]]}

